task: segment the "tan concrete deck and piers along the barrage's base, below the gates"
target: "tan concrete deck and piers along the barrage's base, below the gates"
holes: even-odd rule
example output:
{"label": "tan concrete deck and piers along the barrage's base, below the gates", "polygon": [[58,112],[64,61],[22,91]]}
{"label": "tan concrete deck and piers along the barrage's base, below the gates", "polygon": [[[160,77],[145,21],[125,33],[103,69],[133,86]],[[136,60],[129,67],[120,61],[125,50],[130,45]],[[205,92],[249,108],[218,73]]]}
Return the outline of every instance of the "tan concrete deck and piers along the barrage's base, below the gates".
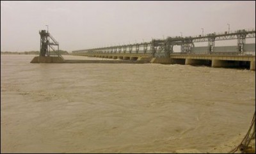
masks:
{"label": "tan concrete deck and piers along the barrage's base, below the gates", "polygon": [[[167,58],[152,58],[151,54],[124,54],[124,53],[116,53],[116,54],[73,53],[73,55],[97,57],[97,58],[130,59],[133,61],[136,61],[136,60],[143,61],[143,63],[150,62],[150,63],[161,63],[161,64],[211,65],[212,67],[239,67],[239,65],[241,64],[244,65],[244,63],[250,63],[250,70],[255,70],[255,56],[253,55],[173,54],[172,53]],[[74,62],[70,62],[70,63],[74,63]],[[91,62],[88,61],[86,63],[91,63]],[[95,61],[95,63],[97,63],[97,61]]]}

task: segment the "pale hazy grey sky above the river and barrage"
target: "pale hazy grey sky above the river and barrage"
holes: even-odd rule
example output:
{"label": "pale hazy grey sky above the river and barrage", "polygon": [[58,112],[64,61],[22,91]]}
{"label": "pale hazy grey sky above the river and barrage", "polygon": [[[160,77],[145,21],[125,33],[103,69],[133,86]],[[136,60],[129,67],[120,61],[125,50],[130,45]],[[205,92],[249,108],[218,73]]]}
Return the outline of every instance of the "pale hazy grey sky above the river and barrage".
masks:
{"label": "pale hazy grey sky above the river and barrage", "polygon": [[39,50],[46,24],[71,52],[255,29],[255,1],[1,1],[1,51]]}

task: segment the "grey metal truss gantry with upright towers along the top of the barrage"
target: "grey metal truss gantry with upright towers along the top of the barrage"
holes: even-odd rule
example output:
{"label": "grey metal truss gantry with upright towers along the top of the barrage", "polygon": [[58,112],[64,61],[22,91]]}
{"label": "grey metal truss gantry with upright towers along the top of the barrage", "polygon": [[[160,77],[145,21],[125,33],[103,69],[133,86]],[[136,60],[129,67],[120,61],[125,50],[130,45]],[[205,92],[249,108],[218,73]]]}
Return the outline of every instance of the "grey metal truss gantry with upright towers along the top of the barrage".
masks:
{"label": "grey metal truss gantry with upright towers along the top of the barrage", "polygon": [[[246,38],[255,38],[255,31],[245,31],[245,30],[237,30],[234,33],[211,33],[205,36],[189,36],[189,37],[167,37],[166,39],[156,40],[152,39],[151,42],[144,42],[144,43],[134,43],[129,45],[118,45],[112,47],[103,47],[103,48],[95,48],[95,49],[86,49],[86,50],[76,50],[73,52],[110,52],[110,53],[117,53],[123,52],[124,53],[132,53],[133,47],[135,47],[135,52],[138,54],[140,47],[143,47],[144,54],[148,50],[148,45],[150,46],[150,54],[152,57],[156,56],[156,49],[163,49],[166,56],[169,56],[171,52],[173,52],[173,45],[180,45],[181,52],[190,53],[191,48],[194,47],[194,43],[196,42],[208,42],[209,47],[209,54],[214,52],[215,41],[220,40],[237,40],[237,52],[243,52],[243,47]],[[129,51],[127,51],[127,48]]]}

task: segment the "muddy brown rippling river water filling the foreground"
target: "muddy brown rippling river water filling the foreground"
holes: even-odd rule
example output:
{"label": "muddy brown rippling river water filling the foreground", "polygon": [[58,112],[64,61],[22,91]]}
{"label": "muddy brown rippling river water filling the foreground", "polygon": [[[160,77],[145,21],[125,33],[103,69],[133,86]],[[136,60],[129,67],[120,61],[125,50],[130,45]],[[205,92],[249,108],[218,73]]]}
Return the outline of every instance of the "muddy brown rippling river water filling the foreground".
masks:
{"label": "muddy brown rippling river water filling the foreground", "polygon": [[[248,130],[255,72],[1,55],[1,152],[207,152]],[[68,59],[90,59],[65,56]]]}

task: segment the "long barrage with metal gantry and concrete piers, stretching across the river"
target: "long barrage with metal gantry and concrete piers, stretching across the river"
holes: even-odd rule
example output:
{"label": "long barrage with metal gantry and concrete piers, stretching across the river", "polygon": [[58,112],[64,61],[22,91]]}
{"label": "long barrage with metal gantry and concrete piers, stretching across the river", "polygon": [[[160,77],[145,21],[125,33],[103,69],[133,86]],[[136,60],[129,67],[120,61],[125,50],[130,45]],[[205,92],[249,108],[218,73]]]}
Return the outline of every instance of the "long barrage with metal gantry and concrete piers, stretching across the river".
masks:
{"label": "long barrage with metal gantry and concrete piers, stretching across the river", "polygon": [[[152,39],[150,42],[74,50],[72,55],[145,63],[207,65],[224,68],[244,66],[255,70],[255,42],[246,43],[248,38],[255,38],[255,30],[242,29],[188,37],[169,36],[166,39]],[[216,41],[225,40],[237,40],[237,43],[233,46],[215,45]],[[195,43],[200,42],[207,42],[207,46],[195,47]],[[173,52],[175,45],[180,46],[180,52]]]}

